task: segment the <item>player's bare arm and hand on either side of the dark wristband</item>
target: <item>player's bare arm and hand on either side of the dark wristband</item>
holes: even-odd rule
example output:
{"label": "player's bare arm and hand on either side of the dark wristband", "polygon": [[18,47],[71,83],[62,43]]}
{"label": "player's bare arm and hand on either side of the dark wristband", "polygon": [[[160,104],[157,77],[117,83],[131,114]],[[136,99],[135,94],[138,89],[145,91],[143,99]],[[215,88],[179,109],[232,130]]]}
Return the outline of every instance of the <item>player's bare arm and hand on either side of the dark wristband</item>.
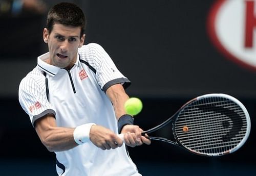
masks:
{"label": "player's bare arm and hand on either side of the dark wristband", "polygon": [[[115,84],[106,90],[106,95],[110,98],[117,120],[126,114],[124,110],[124,103],[129,96],[126,94],[121,84]],[[137,145],[151,144],[151,141],[144,136],[141,136],[143,130],[138,125],[126,124],[122,127],[121,134],[124,134],[124,141],[126,145],[135,147]]]}

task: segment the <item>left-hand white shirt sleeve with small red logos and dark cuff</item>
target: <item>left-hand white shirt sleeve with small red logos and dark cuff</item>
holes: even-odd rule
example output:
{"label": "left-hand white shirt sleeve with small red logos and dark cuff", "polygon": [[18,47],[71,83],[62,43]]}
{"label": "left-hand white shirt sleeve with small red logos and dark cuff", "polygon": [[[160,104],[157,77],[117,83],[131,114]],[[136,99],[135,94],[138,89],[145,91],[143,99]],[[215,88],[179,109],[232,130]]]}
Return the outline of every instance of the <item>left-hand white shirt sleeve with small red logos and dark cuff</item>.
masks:
{"label": "left-hand white shirt sleeve with small red logos and dark cuff", "polygon": [[25,77],[19,84],[18,99],[20,106],[29,115],[33,127],[37,119],[49,113],[56,115],[47,99],[44,78]]}

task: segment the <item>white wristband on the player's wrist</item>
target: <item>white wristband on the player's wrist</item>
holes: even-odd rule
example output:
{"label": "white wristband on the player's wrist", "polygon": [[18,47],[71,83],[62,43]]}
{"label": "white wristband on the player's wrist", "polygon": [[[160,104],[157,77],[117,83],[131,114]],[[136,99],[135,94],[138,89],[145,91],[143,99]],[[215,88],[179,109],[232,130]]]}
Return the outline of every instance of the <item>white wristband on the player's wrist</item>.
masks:
{"label": "white wristband on the player's wrist", "polygon": [[90,130],[95,123],[86,123],[75,128],[73,136],[75,142],[80,145],[90,141]]}

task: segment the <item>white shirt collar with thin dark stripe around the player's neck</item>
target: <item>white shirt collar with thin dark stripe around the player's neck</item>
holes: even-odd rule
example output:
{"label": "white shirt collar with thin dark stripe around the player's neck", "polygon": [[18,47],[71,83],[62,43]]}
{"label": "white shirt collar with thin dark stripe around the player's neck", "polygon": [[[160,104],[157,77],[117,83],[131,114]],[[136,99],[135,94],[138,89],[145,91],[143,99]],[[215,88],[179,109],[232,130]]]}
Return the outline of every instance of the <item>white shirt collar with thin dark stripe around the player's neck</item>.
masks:
{"label": "white shirt collar with thin dark stripe around the player's neck", "polygon": [[[39,56],[37,58],[37,66],[41,70],[49,73],[51,76],[55,76],[61,68],[46,63],[45,61],[46,61],[46,59],[49,58],[49,56],[50,56],[49,52]],[[76,58],[76,62],[74,64],[74,66],[78,66],[78,65],[79,65],[79,54],[77,53],[77,58]]]}

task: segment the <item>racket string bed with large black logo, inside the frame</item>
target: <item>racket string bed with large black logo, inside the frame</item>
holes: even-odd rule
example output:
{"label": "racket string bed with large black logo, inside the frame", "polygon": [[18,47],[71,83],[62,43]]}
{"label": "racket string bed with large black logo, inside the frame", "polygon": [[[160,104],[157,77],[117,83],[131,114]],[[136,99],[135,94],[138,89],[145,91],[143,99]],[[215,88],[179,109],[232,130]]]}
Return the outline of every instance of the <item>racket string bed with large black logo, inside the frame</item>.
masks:
{"label": "racket string bed with large black logo, inside the frame", "polygon": [[[184,132],[183,127],[188,131]],[[183,146],[202,154],[224,153],[246,133],[246,116],[236,103],[223,97],[196,100],[180,112],[174,125]]]}

